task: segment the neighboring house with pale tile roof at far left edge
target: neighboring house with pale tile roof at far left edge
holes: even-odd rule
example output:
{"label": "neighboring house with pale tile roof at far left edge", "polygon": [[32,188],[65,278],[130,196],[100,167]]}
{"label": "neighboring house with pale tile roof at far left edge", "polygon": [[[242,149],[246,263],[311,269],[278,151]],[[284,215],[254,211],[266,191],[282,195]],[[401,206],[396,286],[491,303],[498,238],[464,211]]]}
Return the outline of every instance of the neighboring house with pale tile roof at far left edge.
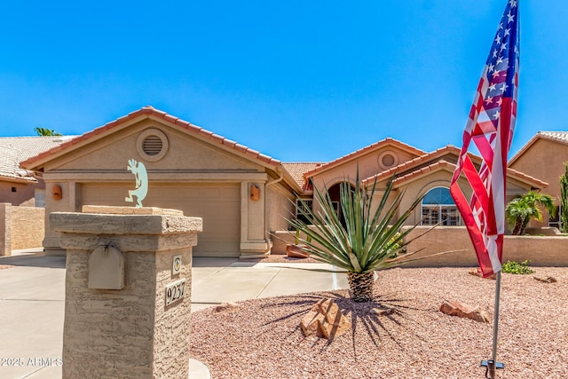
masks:
{"label": "neighboring house with pale tile roof at far left edge", "polygon": [[45,184],[32,170],[20,168],[20,162],[59,146],[69,137],[0,138],[0,202],[13,206],[43,207]]}

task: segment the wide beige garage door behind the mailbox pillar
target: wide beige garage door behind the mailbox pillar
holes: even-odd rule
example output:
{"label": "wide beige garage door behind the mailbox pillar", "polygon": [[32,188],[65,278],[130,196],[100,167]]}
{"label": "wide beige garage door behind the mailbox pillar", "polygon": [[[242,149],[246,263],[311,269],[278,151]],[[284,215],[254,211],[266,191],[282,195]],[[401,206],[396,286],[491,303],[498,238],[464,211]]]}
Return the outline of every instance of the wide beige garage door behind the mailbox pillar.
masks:
{"label": "wide beige garage door behind the mailbox pillar", "polygon": [[[131,185],[83,184],[82,204],[129,206],[124,197]],[[195,257],[240,257],[240,184],[150,183],[145,207],[181,209],[185,216],[203,218],[203,232],[197,235]]]}

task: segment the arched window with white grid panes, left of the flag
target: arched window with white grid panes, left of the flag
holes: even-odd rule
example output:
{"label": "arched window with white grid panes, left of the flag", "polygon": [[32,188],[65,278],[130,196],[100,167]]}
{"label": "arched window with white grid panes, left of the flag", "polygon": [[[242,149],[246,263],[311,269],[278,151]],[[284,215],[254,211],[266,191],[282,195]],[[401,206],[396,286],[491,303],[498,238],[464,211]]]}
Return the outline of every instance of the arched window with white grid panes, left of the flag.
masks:
{"label": "arched window with white grid panes, left of the flag", "polygon": [[422,199],[422,225],[461,225],[461,216],[450,190],[434,187]]}

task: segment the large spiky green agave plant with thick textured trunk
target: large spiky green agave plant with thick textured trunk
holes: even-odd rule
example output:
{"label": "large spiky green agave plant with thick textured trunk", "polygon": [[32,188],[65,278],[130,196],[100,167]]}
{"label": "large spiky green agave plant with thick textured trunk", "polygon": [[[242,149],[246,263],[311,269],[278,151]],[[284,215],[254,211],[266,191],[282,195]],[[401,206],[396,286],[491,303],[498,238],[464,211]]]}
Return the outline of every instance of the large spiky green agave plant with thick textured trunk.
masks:
{"label": "large spiky green agave plant with thick textured trunk", "polygon": [[347,182],[342,183],[340,207],[343,223],[327,190],[320,191],[316,186],[314,193],[321,210],[316,212],[303,204],[300,211],[307,223],[302,219],[288,220],[290,225],[307,236],[301,241],[305,245],[304,251],[347,272],[351,297],[355,302],[373,300],[375,271],[410,262],[414,259],[409,257],[417,252],[406,252],[408,242],[404,241],[415,225],[405,231],[402,231],[402,226],[420,204],[423,195],[397,217],[404,193],[398,193],[393,201],[389,200],[394,178],[390,178],[376,209],[373,206],[376,180],[370,193],[359,181],[359,170],[354,188]]}

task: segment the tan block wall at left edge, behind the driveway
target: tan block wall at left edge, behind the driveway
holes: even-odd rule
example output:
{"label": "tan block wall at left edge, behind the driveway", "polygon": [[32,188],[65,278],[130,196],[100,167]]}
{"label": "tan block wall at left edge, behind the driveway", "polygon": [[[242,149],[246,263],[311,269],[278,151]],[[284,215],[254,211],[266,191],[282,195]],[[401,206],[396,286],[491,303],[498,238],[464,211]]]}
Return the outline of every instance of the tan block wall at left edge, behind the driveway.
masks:
{"label": "tan block wall at left edge, behind the driveway", "polygon": [[43,208],[0,203],[0,256],[9,256],[16,249],[41,248],[44,214]]}

